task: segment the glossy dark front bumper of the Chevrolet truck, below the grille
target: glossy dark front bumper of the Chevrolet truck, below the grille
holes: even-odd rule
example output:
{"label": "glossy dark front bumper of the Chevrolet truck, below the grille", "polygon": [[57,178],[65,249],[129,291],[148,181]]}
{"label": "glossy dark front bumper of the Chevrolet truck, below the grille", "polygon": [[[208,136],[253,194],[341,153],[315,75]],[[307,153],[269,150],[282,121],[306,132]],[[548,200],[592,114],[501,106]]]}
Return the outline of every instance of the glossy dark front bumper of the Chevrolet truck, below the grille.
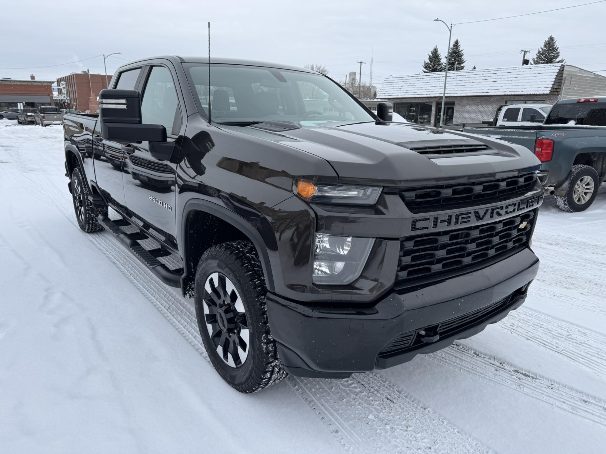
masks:
{"label": "glossy dark front bumper of the Chevrolet truck, below the grille", "polygon": [[[287,372],[299,377],[344,378],[353,372],[395,366],[477,334],[524,302],[527,285],[538,268],[536,255],[523,249],[458,277],[393,291],[370,307],[311,307],[267,294],[267,316]],[[422,342],[401,354],[379,355],[402,334],[430,331],[443,321],[497,301],[505,303],[496,312],[485,312],[483,318],[472,320],[446,337]]]}

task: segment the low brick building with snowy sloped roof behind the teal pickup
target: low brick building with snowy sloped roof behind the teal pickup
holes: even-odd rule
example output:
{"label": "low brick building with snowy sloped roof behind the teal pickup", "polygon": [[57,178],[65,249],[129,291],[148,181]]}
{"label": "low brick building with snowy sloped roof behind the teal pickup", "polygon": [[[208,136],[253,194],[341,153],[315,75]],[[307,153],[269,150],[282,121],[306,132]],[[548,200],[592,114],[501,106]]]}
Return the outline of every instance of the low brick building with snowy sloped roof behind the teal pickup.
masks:
{"label": "low brick building with snowy sloped roof behind the teal pickup", "polygon": [[[444,73],[390,76],[381,99],[407,121],[440,124]],[[504,104],[553,104],[558,99],[606,95],[606,77],[565,64],[449,71],[444,124],[481,123]]]}

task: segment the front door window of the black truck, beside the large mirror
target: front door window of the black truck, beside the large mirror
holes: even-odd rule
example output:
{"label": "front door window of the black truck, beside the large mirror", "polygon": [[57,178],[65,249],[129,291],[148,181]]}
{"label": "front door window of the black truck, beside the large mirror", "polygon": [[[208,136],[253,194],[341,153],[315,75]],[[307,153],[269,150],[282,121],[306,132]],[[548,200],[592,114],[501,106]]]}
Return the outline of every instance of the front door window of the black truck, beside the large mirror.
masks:
{"label": "front door window of the black truck, beside the large mirror", "polygon": [[152,67],[141,100],[142,122],[162,125],[167,134],[172,134],[177,109],[177,91],[170,71],[163,66]]}

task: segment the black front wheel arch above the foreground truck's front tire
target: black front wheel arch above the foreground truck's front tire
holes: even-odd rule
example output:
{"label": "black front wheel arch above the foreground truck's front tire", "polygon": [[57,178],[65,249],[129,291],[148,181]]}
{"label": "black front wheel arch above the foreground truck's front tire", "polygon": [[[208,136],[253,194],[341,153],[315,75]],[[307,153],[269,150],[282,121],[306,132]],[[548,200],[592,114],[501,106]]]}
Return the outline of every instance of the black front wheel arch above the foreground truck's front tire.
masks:
{"label": "black front wheel arch above the foreground truck's front tire", "polygon": [[[210,228],[208,228],[210,227]],[[204,237],[200,229],[207,228]],[[181,215],[181,245],[184,273],[181,291],[185,297],[193,295],[196,267],[204,251],[210,246],[235,240],[247,240],[255,246],[265,286],[273,291],[274,282],[267,247],[256,227],[241,215],[204,199],[191,199],[185,203]]]}

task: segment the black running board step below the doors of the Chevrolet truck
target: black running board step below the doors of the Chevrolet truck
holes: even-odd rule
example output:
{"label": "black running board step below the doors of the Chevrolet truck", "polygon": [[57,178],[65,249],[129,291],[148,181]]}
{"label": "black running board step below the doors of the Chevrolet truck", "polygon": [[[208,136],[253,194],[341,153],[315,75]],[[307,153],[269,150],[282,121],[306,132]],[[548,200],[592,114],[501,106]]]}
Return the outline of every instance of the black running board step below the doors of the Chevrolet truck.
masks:
{"label": "black running board step below the doors of the Chevrolet truck", "polygon": [[[166,285],[170,285],[171,287],[181,287],[181,276],[183,275],[183,269],[179,268],[176,270],[168,269],[164,263],[160,262],[156,257],[162,257],[162,254],[159,254],[158,249],[152,249],[151,251],[147,251],[143,246],[141,246],[136,240],[132,239],[134,234],[128,234],[123,231],[113,222],[109,217],[103,214],[99,214],[97,218],[99,224],[105,227],[105,229],[120,240],[120,242],[128,249],[128,251],[132,252],[136,258],[138,258],[147,268],[155,274],[159,280],[164,282]],[[117,223],[122,224],[125,222],[124,220],[120,220]]]}

